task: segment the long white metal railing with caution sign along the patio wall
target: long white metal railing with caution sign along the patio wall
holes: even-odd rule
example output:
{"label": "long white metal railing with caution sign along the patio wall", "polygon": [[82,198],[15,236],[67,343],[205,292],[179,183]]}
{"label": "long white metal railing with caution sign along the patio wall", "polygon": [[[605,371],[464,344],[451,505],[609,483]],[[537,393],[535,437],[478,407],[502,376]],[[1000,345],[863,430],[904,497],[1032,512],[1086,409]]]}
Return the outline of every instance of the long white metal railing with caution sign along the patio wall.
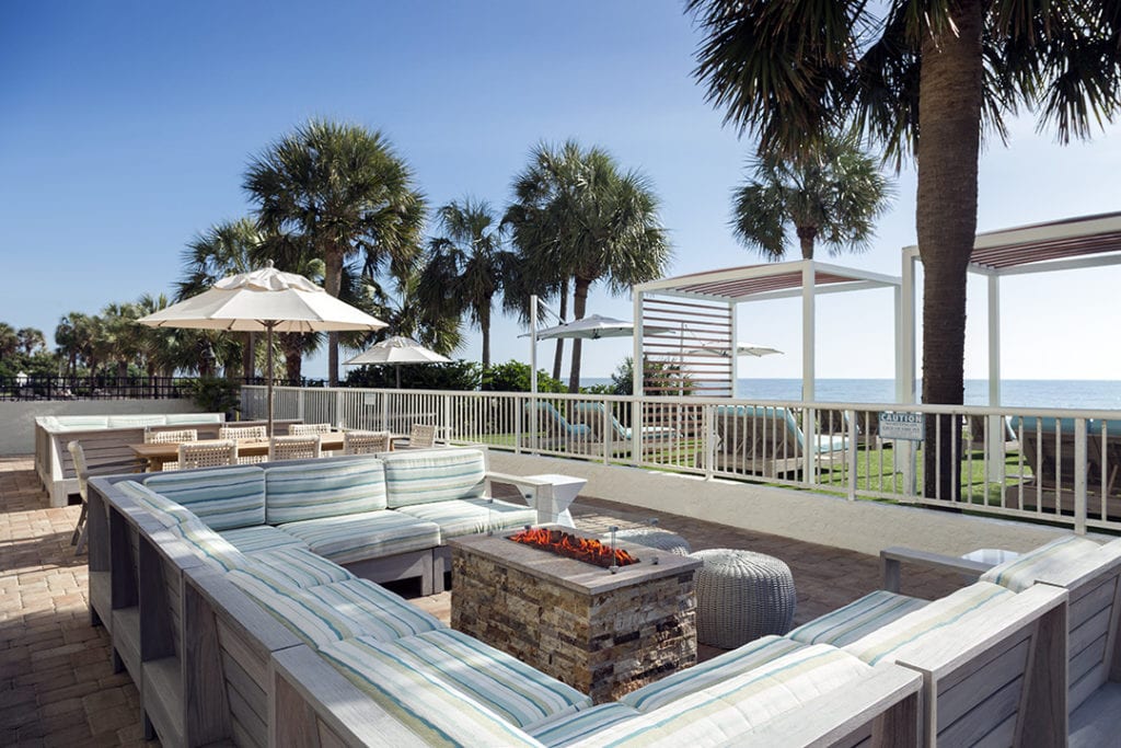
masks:
{"label": "long white metal railing with caution sign along the patio wall", "polygon": [[[263,417],[265,397],[243,387],[242,417]],[[1117,410],[291,387],[276,388],[274,407],[344,428],[434,424],[443,440],[494,450],[1121,529]],[[923,414],[934,443],[948,443],[929,495],[926,442],[879,436],[881,412]],[[955,425],[960,442],[941,438]],[[942,480],[955,469],[958,480]]]}

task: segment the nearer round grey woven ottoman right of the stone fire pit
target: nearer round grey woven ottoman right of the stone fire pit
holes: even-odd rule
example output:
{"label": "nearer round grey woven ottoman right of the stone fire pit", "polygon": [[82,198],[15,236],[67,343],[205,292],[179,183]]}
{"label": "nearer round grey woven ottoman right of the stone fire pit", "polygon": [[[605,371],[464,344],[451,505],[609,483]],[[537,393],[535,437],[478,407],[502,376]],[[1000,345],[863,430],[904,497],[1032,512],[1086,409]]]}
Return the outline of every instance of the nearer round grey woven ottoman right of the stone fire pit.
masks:
{"label": "nearer round grey woven ottoman right of the stone fire pit", "polygon": [[773,556],[713,548],[689,554],[704,563],[696,572],[697,641],[722,649],[794,624],[794,576]]}

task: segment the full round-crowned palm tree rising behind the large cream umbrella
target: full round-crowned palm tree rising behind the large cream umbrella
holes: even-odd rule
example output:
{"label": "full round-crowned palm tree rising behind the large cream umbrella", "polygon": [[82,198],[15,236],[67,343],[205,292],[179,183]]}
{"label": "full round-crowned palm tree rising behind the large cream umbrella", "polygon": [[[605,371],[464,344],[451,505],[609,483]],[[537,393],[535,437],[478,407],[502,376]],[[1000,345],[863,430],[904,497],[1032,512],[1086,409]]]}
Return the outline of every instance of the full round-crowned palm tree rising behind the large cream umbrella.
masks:
{"label": "full round-crowned palm tree rising behind the large cream umbrella", "polygon": [[[424,196],[380,132],[312,120],[257,156],[243,187],[261,228],[303,237],[325,264],[324,287],[337,297],[343,265],[361,259],[369,275],[402,270],[419,255]],[[327,375],[339,384],[339,334],[328,338]]]}

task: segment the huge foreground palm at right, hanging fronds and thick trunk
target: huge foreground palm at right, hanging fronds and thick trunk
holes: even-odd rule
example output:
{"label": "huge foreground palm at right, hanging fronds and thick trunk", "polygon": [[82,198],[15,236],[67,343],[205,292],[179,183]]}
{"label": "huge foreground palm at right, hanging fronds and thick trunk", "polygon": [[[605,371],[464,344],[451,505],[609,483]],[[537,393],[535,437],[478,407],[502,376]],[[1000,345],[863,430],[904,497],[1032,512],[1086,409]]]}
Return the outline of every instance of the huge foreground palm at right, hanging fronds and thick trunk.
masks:
{"label": "huge foreground palm at right, hanging fronds and thick trunk", "polygon": [[[1064,142],[1112,119],[1121,4],[688,0],[686,12],[706,37],[694,74],[708,101],[725,110],[725,122],[759,136],[765,153],[802,153],[851,122],[897,168],[914,155],[923,401],[961,404],[982,133],[1003,139],[1004,118],[1021,105],[1038,111],[1040,124],[1054,123]],[[949,421],[939,449],[924,451],[927,496],[939,473],[942,496],[957,480],[949,446],[961,424]],[[928,445],[936,423],[927,419]]]}

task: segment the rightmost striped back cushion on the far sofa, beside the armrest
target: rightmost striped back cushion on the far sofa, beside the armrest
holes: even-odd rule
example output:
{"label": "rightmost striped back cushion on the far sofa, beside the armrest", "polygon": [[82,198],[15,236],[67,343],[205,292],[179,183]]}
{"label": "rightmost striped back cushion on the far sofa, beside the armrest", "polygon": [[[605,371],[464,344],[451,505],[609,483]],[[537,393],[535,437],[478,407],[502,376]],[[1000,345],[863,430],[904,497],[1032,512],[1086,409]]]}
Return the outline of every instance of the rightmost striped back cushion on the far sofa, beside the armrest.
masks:
{"label": "rightmost striped back cushion on the far sofa, beside the armrest", "polygon": [[485,491],[485,460],[479,450],[387,454],[389,508],[447,499],[473,499]]}

